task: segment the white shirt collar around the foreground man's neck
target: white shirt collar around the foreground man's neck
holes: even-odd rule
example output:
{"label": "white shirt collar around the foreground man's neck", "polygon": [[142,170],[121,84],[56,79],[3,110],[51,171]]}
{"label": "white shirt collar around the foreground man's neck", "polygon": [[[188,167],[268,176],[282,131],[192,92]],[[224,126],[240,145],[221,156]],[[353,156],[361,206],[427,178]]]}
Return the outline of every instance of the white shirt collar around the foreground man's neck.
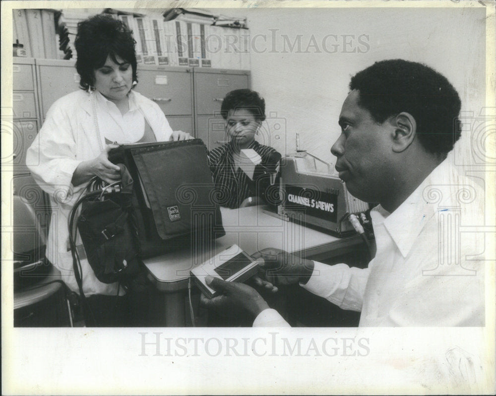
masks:
{"label": "white shirt collar around the foreground man's neck", "polygon": [[415,239],[429,219],[434,216],[439,200],[436,200],[433,194],[444,195],[437,186],[441,189],[443,185],[448,186],[449,180],[453,179],[453,170],[450,160],[445,159],[394,212],[389,213],[380,205],[372,209],[373,223],[384,223],[384,227],[403,257],[408,255]]}

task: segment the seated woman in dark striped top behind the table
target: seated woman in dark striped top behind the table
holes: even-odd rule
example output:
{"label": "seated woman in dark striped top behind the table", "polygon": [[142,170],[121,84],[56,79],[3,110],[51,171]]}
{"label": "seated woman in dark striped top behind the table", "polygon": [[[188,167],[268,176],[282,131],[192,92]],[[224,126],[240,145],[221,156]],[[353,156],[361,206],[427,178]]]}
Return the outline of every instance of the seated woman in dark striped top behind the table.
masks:
{"label": "seated woman in dark striped top behind the table", "polygon": [[[239,208],[248,197],[262,198],[263,201],[270,187],[268,177],[264,176],[275,172],[281,159],[276,150],[255,141],[255,135],[265,120],[265,100],[250,89],[236,89],[222,101],[221,113],[226,120],[226,135],[230,141],[208,154],[217,200],[221,206],[231,209]],[[255,168],[253,180],[241,168],[243,149],[253,149],[262,158]]]}

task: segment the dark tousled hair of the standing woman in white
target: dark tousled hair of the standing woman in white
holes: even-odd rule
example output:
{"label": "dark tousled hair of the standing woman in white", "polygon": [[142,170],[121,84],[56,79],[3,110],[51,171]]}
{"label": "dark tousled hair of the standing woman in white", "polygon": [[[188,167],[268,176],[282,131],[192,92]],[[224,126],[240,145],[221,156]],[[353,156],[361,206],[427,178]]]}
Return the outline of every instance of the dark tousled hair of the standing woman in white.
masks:
{"label": "dark tousled hair of the standing woman in white", "polygon": [[130,63],[132,79],[137,82],[135,44],[131,30],[110,15],[99,14],[79,22],[74,45],[80,87],[88,89],[94,85],[95,69],[105,65],[108,56],[117,64],[116,57]]}

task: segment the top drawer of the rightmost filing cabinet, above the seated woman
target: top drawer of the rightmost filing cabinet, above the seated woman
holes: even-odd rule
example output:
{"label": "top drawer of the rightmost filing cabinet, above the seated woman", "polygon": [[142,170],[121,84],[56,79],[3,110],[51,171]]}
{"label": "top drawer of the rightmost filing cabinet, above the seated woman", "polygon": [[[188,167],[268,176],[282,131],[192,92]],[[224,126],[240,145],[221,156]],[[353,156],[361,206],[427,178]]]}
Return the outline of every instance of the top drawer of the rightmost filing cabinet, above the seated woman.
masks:
{"label": "top drawer of the rightmost filing cabinet, above the seated woman", "polygon": [[234,89],[248,88],[248,75],[195,73],[196,114],[220,112],[222,99]]}

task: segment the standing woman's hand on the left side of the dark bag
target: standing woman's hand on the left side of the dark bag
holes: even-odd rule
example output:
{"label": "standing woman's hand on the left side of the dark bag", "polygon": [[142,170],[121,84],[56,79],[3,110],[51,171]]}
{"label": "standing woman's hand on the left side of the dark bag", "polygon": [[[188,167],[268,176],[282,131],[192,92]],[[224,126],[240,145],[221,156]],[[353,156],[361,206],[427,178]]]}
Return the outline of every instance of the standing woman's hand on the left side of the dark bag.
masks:
{"label": "standing woman's hand on the left side of the dark bag", "polygon": [[109,161],[109,151],[119,147],[107,145],[97,158],[89,159],[77,165],[72,174],[72,185],[77,186],[88,181],[93,176],[98,176],[107,183],[114,183],[121,179],[119,166]]}

